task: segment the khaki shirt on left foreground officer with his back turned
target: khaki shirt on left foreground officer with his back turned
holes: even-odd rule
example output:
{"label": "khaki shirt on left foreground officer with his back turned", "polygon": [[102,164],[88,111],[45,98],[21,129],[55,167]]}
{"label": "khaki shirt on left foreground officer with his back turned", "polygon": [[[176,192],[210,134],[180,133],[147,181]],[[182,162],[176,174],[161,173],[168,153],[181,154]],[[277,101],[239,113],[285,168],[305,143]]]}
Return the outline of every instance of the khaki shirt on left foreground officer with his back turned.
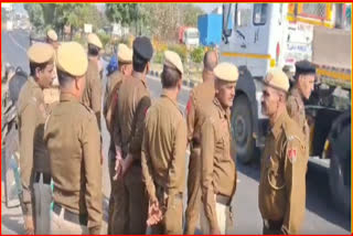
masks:
{"label": "khaki shirt on left foreground officer with his back turned", "polygon": [[73,95],[61,94],[45,125],[44,141],[51,154],[54,202],[88,214],[88,228],[100,228],[100,141],[94,112]]}

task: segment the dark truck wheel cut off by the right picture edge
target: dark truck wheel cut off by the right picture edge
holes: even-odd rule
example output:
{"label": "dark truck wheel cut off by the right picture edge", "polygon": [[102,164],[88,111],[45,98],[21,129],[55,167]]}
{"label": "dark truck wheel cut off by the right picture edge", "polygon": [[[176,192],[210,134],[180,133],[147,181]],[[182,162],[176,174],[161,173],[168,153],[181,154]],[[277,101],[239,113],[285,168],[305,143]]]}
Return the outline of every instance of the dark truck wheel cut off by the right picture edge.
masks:
{"label": "dark truck wheel cut off by the right picture edge", "polygon": [[336,208],[345,215],[351,214],[351,186],[344,184],[343,170],[339,158],[333,154],[330,164],[330,190]]}

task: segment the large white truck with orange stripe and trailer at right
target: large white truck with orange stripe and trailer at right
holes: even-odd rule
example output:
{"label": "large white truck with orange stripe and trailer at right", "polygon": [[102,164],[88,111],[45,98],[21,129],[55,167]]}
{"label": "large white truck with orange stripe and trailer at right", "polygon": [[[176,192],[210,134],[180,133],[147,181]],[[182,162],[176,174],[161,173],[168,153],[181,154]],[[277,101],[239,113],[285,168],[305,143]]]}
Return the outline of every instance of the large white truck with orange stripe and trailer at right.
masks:
{"label": "large white truck with orange stripe and trailer at right", "polygon": [[[317,66],[306,101],[310,162],[325,167],[333,203],[351,212],[351,20],[347,3],[224,3],[220,61],[237,65],[232,107],[236,158],[260,157],[268,130],[261,114],[263,79],[272,67]],[[233,26],[229,28],[229,21]]]}

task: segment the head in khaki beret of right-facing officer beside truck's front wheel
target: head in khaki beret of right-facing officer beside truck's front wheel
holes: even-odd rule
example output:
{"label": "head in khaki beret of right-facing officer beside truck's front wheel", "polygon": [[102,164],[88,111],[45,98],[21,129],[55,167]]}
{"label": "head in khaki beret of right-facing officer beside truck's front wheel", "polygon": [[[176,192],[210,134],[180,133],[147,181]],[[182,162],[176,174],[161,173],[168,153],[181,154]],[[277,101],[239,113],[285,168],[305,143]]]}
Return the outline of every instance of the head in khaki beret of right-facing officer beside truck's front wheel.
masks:
{"label": "head in khaki beret of right-facing officer beside truck's front wheel", "polygon": [[220,63],[213,71],[215,79],[215,96],[224,108],[233,106],[235,86],[238,81],[238,68],[231,63]]}

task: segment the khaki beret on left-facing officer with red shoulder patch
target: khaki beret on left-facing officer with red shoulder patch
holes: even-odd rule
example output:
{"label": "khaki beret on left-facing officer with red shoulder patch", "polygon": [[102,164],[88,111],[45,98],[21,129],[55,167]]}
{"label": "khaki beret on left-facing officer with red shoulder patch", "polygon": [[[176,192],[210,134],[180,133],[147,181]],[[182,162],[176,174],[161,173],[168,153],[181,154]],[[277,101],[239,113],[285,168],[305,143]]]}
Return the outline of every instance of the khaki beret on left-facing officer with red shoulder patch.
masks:
{"label": "khaki beret on left-facing officer with red shoulder patch", "polygon": [[289,89],[289,78],[284,73],[281,68],[271,68],[265,79],[264,79],[265,85],[271,86],[276,89],[280,89],[284,92],[288,92]]}

